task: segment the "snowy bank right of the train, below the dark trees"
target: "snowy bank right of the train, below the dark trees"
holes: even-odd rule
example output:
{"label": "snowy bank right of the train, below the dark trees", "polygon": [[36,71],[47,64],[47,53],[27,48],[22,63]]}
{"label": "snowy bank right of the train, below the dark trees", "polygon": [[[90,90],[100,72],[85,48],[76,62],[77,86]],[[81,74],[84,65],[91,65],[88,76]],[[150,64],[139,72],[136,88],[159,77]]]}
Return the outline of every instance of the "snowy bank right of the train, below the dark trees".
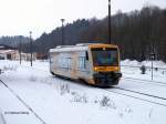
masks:
{"label": "snowy bank right of the train, below the dark trees", "polygon": [[[151,61],[129,61],[124,60],[121,62],[122,73],[125,78],[135,78],[143,80],[152,80],[152,62]],[[141,66],[145,65],[145,74],[142,74]],[[153,81],[159,81],[166,83],[166,63],[162,61],[153,62]]]}

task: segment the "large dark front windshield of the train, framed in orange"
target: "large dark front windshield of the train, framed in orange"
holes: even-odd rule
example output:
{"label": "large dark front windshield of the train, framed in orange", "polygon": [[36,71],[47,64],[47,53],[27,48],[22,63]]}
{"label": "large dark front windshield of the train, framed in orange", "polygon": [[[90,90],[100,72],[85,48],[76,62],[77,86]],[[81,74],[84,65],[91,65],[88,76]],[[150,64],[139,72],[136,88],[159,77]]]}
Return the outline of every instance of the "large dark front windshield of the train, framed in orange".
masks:
{"label": "large dark front windshield of the train, framed in orange", "polygon": [[113,48],[94,48],[92,49],[94,66],[117,66],[118,52]]}

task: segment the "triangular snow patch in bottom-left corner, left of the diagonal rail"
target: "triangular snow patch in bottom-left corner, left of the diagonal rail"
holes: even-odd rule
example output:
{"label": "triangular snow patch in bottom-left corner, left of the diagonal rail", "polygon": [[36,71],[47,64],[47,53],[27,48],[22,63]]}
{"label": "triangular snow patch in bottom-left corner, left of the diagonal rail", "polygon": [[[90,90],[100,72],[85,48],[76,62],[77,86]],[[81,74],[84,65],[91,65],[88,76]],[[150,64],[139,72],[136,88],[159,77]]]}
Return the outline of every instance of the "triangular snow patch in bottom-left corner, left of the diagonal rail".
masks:
{"label": "triangular snow patch in bottom-left corner, left of the diagonal rail", "polygon": [[42,124],[2,83],[0,83],[0,107],[4,124]]}

